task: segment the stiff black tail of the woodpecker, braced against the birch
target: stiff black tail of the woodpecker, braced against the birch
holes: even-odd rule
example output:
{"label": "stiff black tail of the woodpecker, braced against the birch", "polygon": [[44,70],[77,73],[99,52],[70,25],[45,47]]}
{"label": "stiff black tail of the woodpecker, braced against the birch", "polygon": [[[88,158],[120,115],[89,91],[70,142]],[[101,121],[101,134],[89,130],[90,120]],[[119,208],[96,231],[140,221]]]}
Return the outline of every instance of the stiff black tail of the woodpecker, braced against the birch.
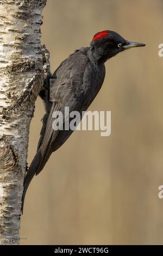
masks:
{"label": "stiff black tail of the woodpecker, braced against the birch", "polygon": [[30,164],[30,167],[24,179],[24,190],[22,195],[22,208],[21,208],[22,214],[23,214],[24,198],[26,196],[27,188],[30,184],[30,181],[32,181],[35,173],[39,172],[40,165],[41,165],[41,153],[40,153],[40,150],[38,150],[32,163]]}

